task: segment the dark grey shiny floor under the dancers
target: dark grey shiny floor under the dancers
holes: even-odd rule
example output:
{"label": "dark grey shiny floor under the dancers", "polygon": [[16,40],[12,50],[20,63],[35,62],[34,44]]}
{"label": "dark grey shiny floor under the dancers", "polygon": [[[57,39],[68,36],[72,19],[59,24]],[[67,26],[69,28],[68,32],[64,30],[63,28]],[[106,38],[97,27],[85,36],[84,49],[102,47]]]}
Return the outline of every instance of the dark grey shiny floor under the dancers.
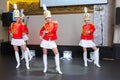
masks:
{"label": "dark grey shiny floor under the dancers", "polygon": [[14,56],[0,55],[0,80],[120,80],[120,60],[100,60],[101,68],[93,63],[84,67],[82,58],[60,61],[62,75],[55,71],[54,57],[48,57],[48,72],[43,73],[41,57],[33,57],[27,70],[24,60],[16,69]]}

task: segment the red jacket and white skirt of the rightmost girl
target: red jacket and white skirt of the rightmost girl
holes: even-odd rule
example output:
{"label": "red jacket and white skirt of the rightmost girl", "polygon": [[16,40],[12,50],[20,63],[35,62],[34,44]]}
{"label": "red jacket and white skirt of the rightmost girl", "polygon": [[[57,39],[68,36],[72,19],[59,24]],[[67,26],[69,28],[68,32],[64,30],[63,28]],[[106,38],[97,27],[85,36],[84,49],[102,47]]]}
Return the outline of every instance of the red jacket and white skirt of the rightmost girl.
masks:
{"label": "red jacket and white skirt of the rightmost girl", "polygon": [[94,31],[95,31],[95,27],[93,24],[83,25],[79,45],[82,47],[95,46],[95,43],[92,41],[94,39],[94,35],[93,35]]}

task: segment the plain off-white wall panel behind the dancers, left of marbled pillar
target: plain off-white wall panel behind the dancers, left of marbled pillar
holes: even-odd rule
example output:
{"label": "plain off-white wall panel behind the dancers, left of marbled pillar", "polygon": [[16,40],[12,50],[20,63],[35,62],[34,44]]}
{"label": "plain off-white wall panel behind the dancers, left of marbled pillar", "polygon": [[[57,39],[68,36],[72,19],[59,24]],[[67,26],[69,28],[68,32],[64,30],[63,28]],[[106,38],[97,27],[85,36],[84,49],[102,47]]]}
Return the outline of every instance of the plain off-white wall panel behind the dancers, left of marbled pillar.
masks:
{"label": "plain off-white wall panel behind the dancers, left of marbled pillar", "polygon": [[[27,21],[28,16],[25,18]],[[52,15],[53,20],[59,23],[58,28],[58,45],[78,45],[80,40],[81,26],[83,24],[83,14],[63,14]],[[91,22],[93,23],[93,14]],[[29,16],[28,28],[30,31],[28,44],[40,44],[39,30],[44,22],[43,15]]]}

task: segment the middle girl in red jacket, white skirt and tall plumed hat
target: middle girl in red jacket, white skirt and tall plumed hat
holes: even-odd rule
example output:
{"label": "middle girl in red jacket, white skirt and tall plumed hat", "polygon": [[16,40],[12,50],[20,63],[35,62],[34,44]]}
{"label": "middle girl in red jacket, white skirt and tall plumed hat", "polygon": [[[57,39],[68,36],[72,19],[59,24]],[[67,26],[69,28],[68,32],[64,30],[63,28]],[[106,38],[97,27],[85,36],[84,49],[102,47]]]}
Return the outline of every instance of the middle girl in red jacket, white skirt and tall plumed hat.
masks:
{"label": "middle girl in red jacket, white skirt and tall plumed hat", "polygon": [[[52,49],[52,51],[55,54],[55,64],[56,64],[56,71],[58,71],[59,74],[62,74],[60,70],[60,60],[59,60],[59,52],[57,49],[57,45],[55,43],[55,40],[57,40],[57,28],[58,28],[58,22],[52,21],[51,19],[51,13],[46,9],[46,6],[43,6],[44,8],[44,17],[46,23],[43,24],[42,28],[40,29],[40,47],[43,48],[43,63],[44,63],[44,70],[43,72],[47,72],[47,49]],[[44,36],[43,36],[44,34]],[[43,37],[42,37],[43,36]]]}

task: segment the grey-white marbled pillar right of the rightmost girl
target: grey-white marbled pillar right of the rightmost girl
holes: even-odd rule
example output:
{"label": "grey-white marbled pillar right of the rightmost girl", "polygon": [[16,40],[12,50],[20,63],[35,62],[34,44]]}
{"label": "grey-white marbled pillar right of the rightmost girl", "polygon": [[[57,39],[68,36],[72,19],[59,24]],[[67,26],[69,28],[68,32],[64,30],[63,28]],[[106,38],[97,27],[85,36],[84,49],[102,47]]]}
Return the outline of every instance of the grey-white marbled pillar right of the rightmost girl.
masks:
{"label": "grey-white marbled pillar right of the rightmost girl", "polygon": [[101,46],[113,44],[115,1],[109,0],[108,2],[109,4],[94,6],[94,24],[97,28],[95,39],[97,39],[96,43]]}

